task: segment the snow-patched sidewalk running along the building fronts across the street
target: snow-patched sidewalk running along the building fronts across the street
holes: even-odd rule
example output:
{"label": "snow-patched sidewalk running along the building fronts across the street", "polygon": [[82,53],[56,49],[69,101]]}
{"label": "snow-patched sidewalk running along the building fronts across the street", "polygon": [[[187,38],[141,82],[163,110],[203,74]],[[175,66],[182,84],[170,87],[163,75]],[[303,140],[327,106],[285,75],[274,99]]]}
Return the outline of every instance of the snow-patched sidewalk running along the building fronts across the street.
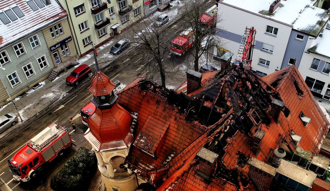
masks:
{"label": "snow-patched sidewalk running along the building fronts across the street", "polygon": [[[167,10],[164,12],[155,12],[154,14],[150,15],[149,18],[152,20],[155,20],[156,17],[162,13],[168,14],[170,17],[170,21],[174,22],[175,20],[178,19],[177,14],[178,14],[178,7],[183,6],[183,4],[180,2],[178,5],[176,3],[177,1],[172,2],[171,4],[173,7],[171,10]],[[147,20],[147,19],[145,19]],[[143,21],[142,21],[143,22]],[[171,22],[168,22],[170,24]],[[149,24],[149,23],[148,23]],[[122,32],[121,34],[115,36],[115,38],[102,46],[97,48],[98,51],[98,63],[100,68],[104,68],[107,65],[109,65],[112,61],[115,59],[125,56],[127,52],[122,53],[120,55],[112,55],[109,53],[110,47],[114,45],[115,42],[119,41],[120,39],[127,38],[126,34],[129,34],[130,29],[127,31]],[[89,65],[93,71],[95,71],[95,62],[94,62],[94,57],[92,52],[85,55],[84,57],[80,58],[78,60],[80,64],[87,64]],[[17,110],[23,120],[27,120],[37,114],[38,112],[42,111],[44,108],[47,106],[53,104],[53,103],[58,103],[61,99],[65,98],[68,95],[68,92],[74,88],[71,86],[67,86],[65,83],[65,78],[73,71],[75,68],[77,68],[79,65],[69,68],[66,72],[61,72],[58,77],[56,77],[53,81],[45,80],[41,82],[41,86],[34,90],[30,89],[27,91],[27,95],[25,95],[22,98],[16,98],[15,104],[17,107]],[[14,106],[12,105],[12,102],[7,103],[3,107],[0,108],[0,115],[4,115],[6,113],[13,112],[15,113]],[[11,131],[11,129],[16,128],[17,125],[20,123],[16,124],[15,126],[12,126],[9,128],[9,130],[6,131]],[[4,133],[2,133],[4,134]],[[0,138],[4,136],[1,135]]]}

